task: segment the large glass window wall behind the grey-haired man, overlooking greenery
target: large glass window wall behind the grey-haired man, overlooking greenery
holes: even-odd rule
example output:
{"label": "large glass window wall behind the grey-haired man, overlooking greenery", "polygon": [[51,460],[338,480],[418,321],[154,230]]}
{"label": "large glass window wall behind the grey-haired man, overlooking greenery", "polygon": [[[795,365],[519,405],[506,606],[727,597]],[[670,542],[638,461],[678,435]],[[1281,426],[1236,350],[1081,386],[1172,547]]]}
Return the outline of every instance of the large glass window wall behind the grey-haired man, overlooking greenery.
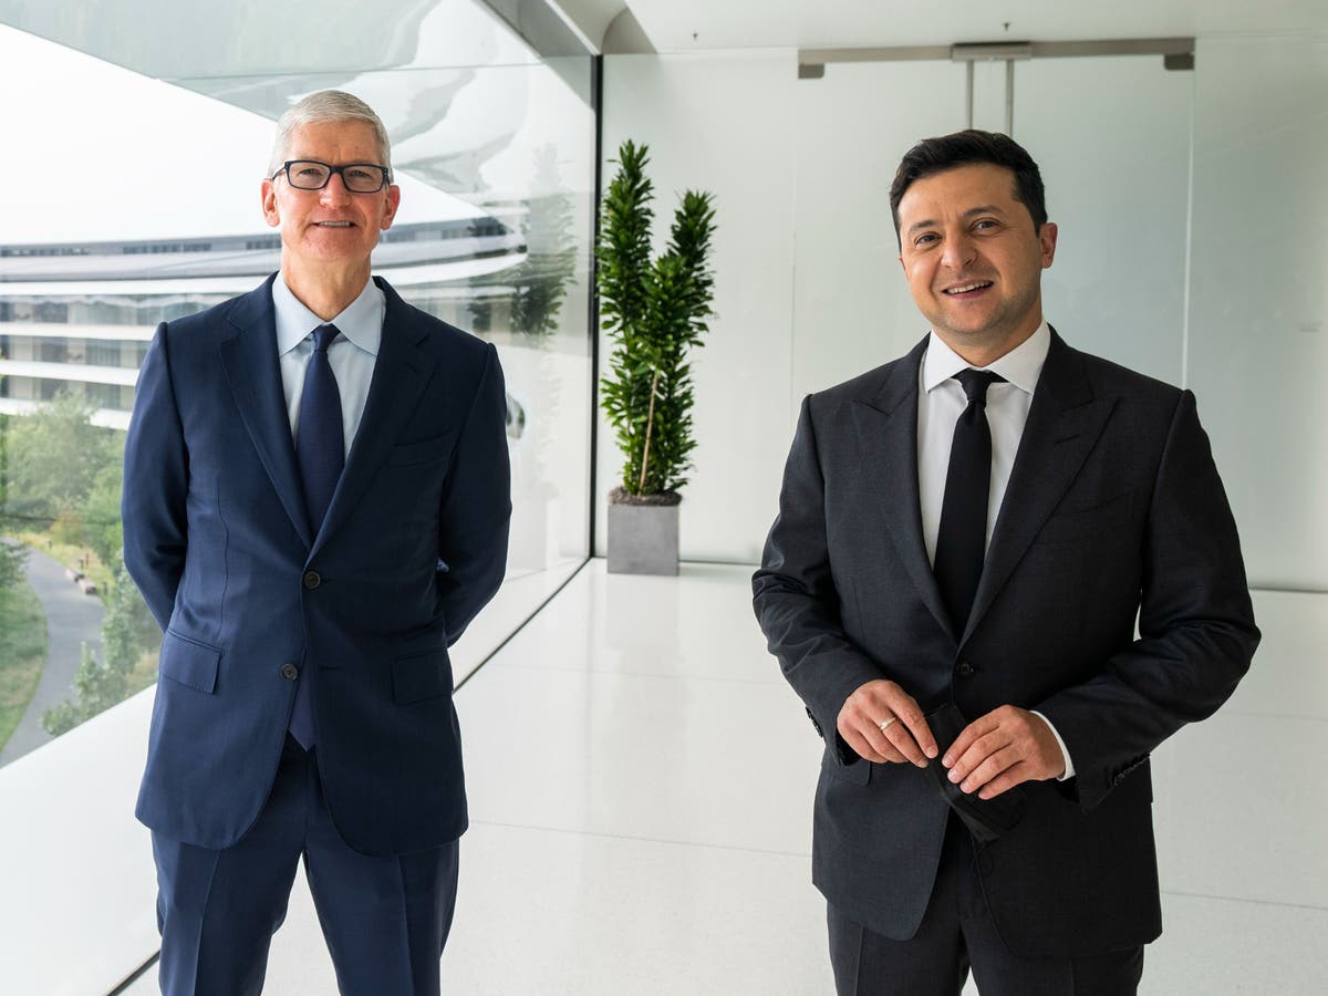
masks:
{"label": "large glass window wall behind the grey-haired man, overlooking greenery", "polygon": [[29,94],[7,130],[44,163],[42,197],[0,190],[0,765],[155,680],[120,558],[137,371],[159,321],[278,267],[259,181],[272,121],[313,90],[364,97],[392,134],[402,206],[374,272],[506,374],[507,582],[458,680],[587,555],[591,60],[539,58],[473,0],[413,11],[390,69],[256,73],[242,46],[171,84],[0,28],[0,82]]}

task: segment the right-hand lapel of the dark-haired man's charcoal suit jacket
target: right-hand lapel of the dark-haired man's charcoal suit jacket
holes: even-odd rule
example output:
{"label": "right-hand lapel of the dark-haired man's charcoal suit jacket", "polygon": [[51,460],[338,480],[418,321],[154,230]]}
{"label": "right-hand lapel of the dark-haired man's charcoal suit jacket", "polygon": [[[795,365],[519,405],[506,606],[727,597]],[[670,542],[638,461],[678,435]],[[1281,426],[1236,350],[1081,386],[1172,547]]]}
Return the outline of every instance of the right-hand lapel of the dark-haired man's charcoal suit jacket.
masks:
{"label": "right-hand lapel of the dark-haired man's charcoal suit jacket", "polygon": [[981,622],[1011,572],[1073,483],[1116,406],[1094,397],[1081,355],[1052,329],[1028,422],[992,531],[964,639]]}

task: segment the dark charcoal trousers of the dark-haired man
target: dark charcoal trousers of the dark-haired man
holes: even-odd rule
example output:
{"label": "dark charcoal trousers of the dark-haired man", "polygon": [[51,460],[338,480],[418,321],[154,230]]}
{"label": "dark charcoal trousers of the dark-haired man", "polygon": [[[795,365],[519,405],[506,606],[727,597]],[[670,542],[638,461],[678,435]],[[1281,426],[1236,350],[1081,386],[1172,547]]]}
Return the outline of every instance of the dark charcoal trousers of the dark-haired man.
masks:
{"label": "dark charcoal trousers of the dark-haired man", "polygon": [[972,841],[954,815],[914,938],[872,934],[833,906],[827,920],[838,996],[960,996],[969,968],[983,996],[1134,996],[1143,975],[1142,947],[1094,957],[1012,955],[987,910]]}

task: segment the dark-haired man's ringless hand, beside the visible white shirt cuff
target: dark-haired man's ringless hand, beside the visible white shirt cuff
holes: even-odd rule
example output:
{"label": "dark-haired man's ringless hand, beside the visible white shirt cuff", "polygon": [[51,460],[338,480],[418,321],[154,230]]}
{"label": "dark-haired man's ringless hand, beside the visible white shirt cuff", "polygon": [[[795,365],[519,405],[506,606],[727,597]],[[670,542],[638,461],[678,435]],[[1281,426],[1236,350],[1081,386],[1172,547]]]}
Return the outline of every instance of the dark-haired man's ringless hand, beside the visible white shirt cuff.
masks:
{"label": "dark-haired man's ringless hand, beside the visible white shirt cuff", "polygon": [[1028,709],[1003,705],[955,737],[940,762],[950,781],[989,799],[1021,782],[1060,778],[1065,758],[1050,728]]}

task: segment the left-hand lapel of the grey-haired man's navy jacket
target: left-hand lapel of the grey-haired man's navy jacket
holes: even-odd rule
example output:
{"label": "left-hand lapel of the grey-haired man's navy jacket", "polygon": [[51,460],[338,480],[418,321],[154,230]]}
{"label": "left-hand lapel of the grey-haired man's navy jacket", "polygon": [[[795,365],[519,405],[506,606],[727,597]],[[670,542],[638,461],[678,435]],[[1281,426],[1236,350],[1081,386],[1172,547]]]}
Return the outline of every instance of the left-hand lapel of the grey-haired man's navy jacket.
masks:
{"label": "left-hand lapel of the grey-haired man's navy jacket", "polygon": [[304,489],[295,467],[295,441],[291,438],[291,418],[286,410],[286,390],[276,356],[274,279],[275,275],[236,300],[226,316],[230,328],[223,331],[218,352],[259,461],[291,525],[308,546],[312,537],[304,510]]}

